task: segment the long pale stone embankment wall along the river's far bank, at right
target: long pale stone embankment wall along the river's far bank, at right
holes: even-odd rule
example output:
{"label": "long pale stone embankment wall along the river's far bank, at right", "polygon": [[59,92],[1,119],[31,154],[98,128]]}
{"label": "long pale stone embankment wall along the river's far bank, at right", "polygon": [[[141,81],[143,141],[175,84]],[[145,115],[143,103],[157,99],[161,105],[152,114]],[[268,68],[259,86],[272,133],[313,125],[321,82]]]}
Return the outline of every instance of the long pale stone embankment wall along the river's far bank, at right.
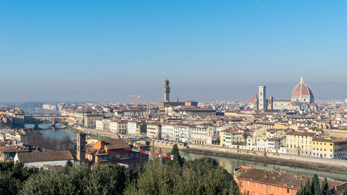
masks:
{"label": "long pale stone embankment wall along the river's far bank, at right", "polygon": [[230,149],[221,146],[205,146],[198,144],[188,144],[188,147],[189,149],[187,149],[186,151],[190,153],[219,155],[229,158],[255,160],[260,162],[271,162],[296,167],[307,167],[347,173],[347,160],[314,158],[303,155],[289,155],[283,153],[264,153],[261,151]]}

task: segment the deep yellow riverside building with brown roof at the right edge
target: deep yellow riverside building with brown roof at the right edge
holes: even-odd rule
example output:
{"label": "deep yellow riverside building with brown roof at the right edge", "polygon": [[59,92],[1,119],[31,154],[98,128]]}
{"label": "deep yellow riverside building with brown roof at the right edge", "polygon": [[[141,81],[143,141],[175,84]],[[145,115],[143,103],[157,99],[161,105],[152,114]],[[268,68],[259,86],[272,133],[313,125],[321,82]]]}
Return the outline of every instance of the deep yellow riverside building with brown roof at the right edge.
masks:
{"label": "deep yellow riverside building with brown roof at the right edge", "polygon": [[315,137],[312,140],[312,154],[320,158],[345,159],[347,157],[347,140]]}

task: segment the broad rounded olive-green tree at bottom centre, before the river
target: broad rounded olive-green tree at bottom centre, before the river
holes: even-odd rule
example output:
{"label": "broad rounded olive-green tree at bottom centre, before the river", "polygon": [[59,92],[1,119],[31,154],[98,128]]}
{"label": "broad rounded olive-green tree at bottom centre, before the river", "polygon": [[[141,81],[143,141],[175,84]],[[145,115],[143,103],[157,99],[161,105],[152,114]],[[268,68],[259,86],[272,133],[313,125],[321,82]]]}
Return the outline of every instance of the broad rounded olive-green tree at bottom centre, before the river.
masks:
{"label": "broad rounded olive-green tree at bottom centre, before the river", "polygon": [[149,161],[139,178],[124,192],[139,194],[232,194],[240,195],[234,178],[211,158],[178,163],[164,163],[158,158]]}

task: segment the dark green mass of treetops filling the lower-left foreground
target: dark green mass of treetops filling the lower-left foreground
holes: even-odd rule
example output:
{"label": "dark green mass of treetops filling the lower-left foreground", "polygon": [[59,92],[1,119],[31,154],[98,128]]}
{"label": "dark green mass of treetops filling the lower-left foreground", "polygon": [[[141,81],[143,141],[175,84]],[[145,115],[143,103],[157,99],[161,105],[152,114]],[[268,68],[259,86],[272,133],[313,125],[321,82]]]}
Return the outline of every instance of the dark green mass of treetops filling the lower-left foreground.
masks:
{"label": "dark green mass of treetops filling the lower-left foreground", "polygon": [[176,160],[147,162],[133,172],[117,164],[72,165],[64,169],[27,169],[23,164],[0,164],[1,194],[232,194],[239,188],[232,175],[216,160],[185,161],[178,149]]}

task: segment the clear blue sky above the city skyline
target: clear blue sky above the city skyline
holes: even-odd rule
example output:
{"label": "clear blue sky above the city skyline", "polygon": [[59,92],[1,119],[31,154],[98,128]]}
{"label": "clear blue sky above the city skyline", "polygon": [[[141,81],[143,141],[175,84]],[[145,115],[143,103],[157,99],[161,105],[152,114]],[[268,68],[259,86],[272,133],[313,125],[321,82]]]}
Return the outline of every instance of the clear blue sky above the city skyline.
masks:
{"label": "clear blue sky above the city skyline", "polygon": [[[292,89],[301,76],[347,92],[346,8],[328,0],[1,0],[0,102],[161,100],[166,78],[171,99],[243,99],[260,84]],[[289,88],[288,97],[276,94],[281,87],[273,95],[290,99]]]}

